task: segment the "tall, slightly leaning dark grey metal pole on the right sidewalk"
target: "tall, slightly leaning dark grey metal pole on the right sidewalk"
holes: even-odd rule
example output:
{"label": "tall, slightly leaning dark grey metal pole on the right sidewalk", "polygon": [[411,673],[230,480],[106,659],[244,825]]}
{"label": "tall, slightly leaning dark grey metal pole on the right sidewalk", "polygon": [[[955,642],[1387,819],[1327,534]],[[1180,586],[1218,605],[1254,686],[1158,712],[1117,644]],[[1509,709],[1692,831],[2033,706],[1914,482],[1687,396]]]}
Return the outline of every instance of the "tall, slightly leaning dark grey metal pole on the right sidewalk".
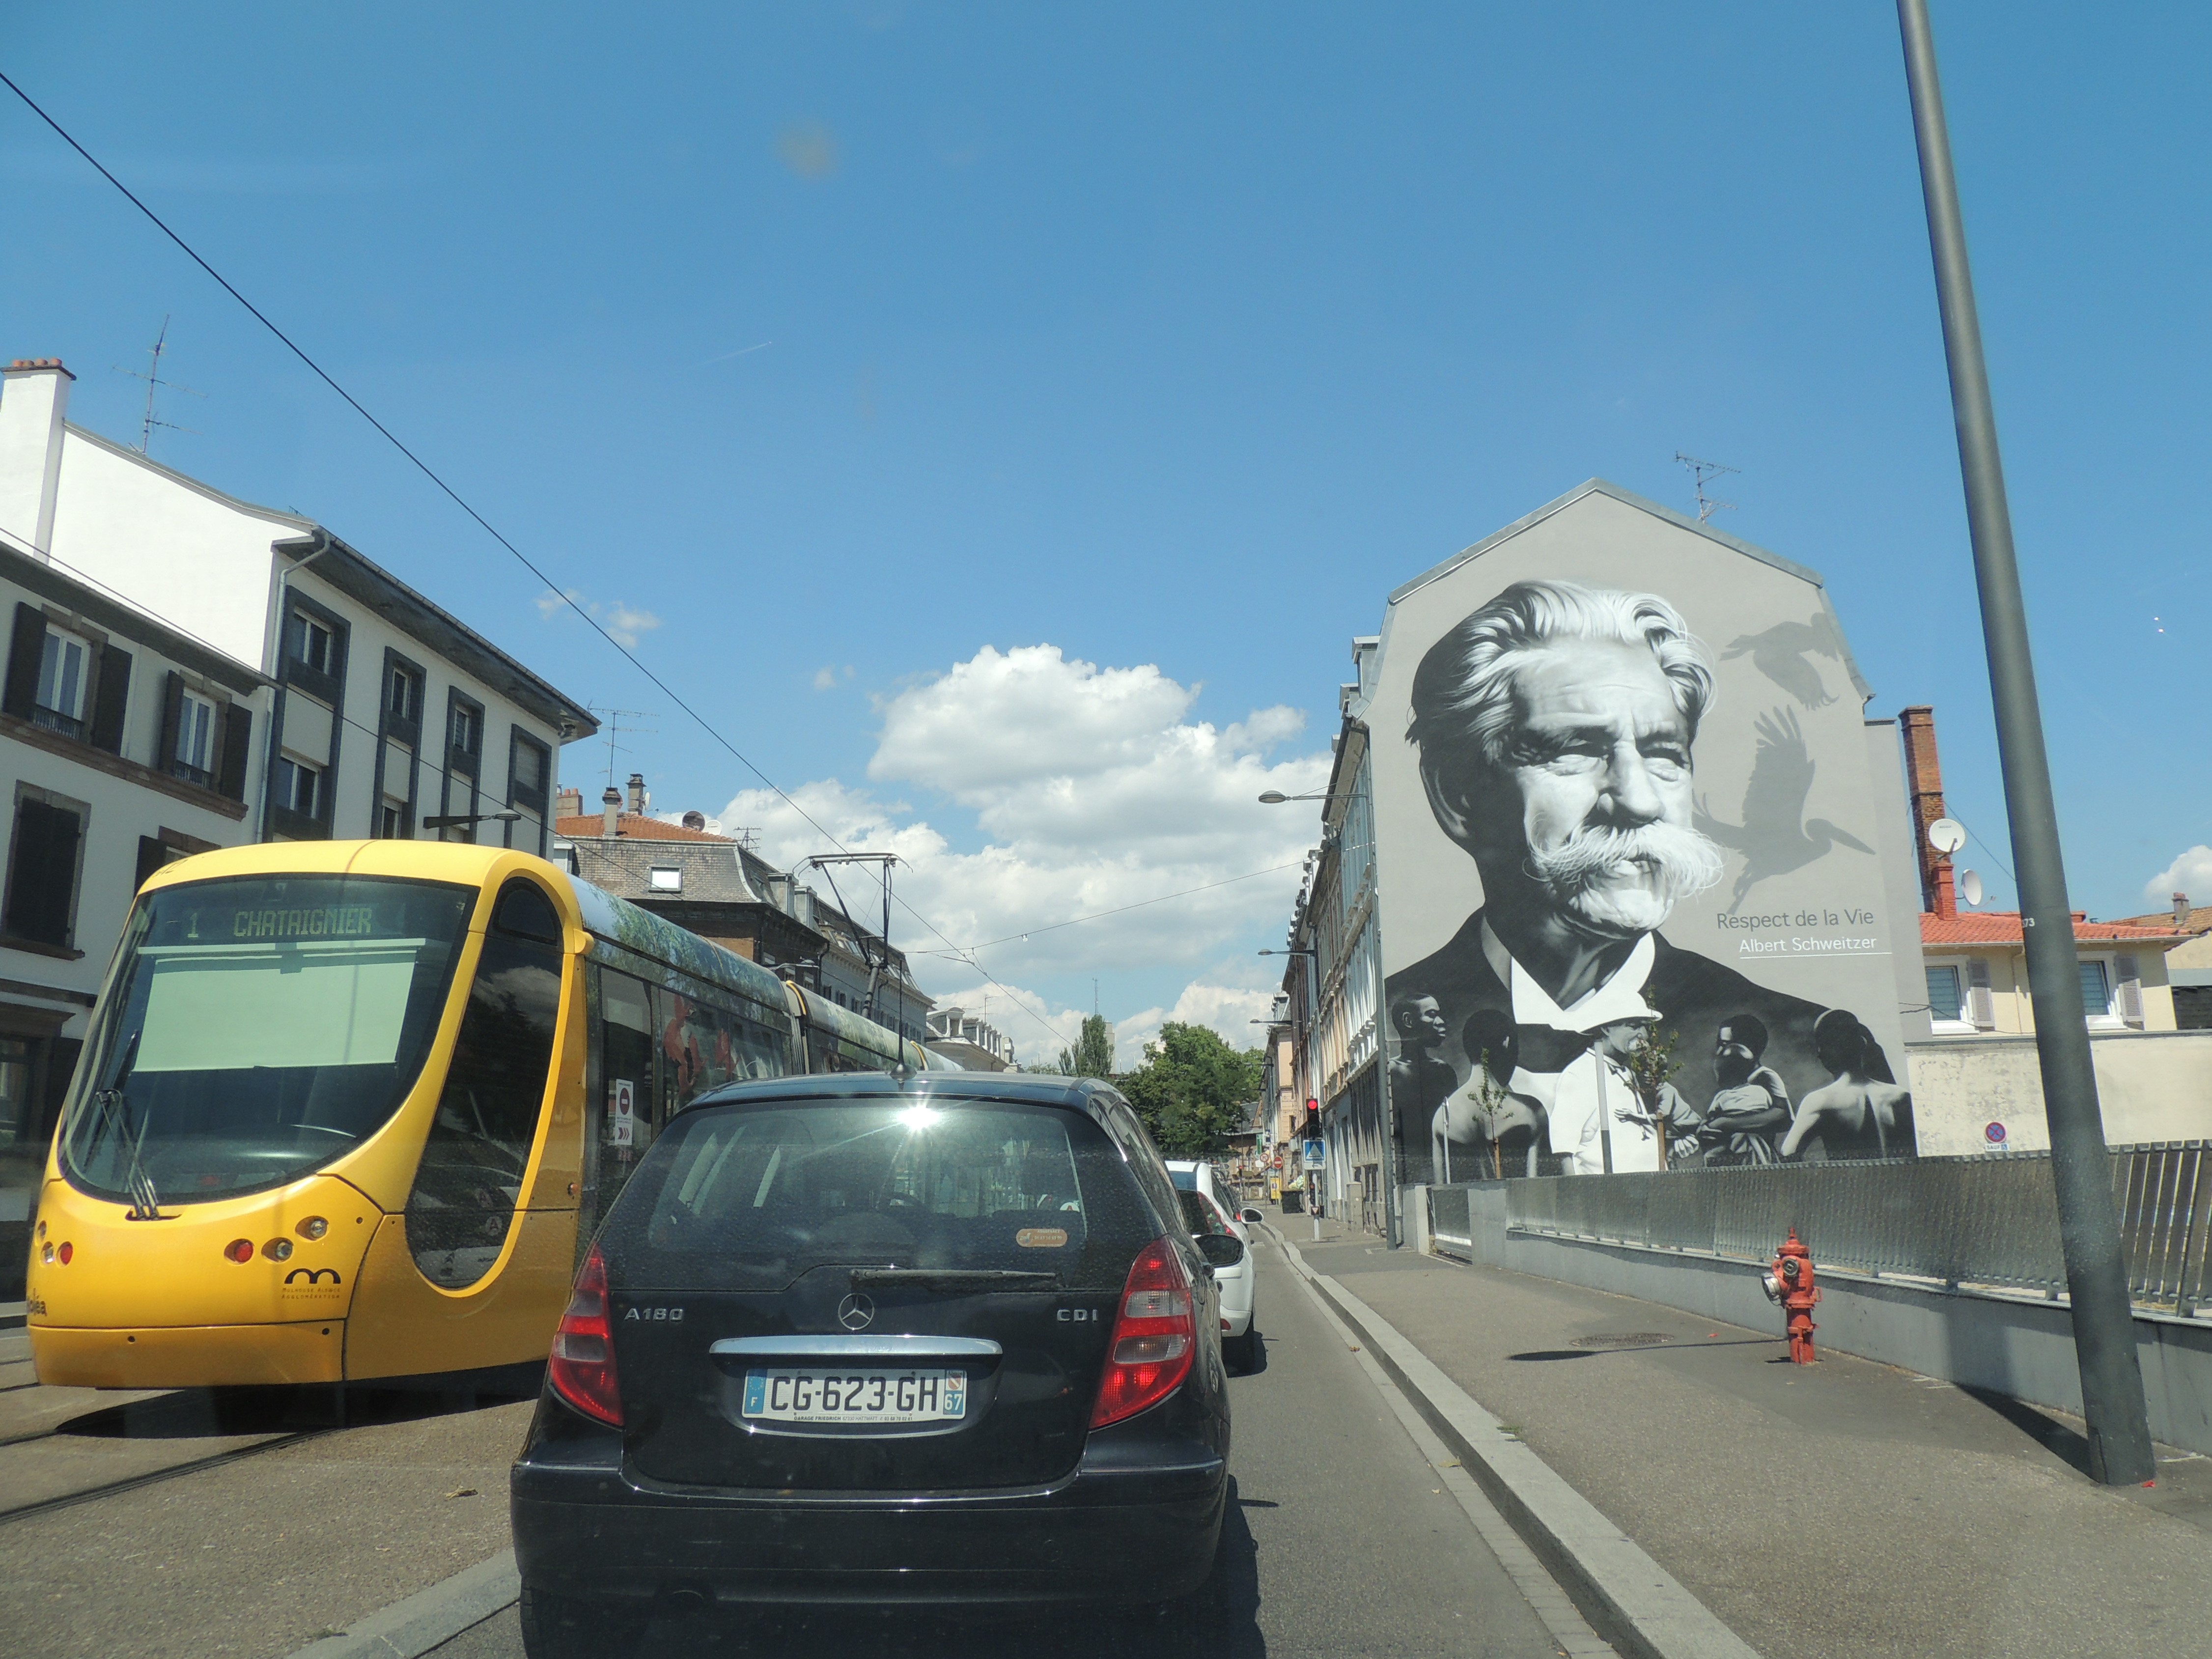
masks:
{"label": "tall, slightly leaning dark grey metal pole on the right sidewalk", "polygon": [[2075,1360],[2088,1418],[2090,1475],[2108,1486],[2154,1475],[2143,1374],[2135,1352],[2128,1270],[2119,1250],[2119,1212],[2097,1110],[2097,1073],[2081,1018],[2066,867],[2059,858],[2051,761],[2028,657],[2028,617],[2013,560],[2013,515],[1997,458],[1997,416],[1982,363],[1982,323],[1966,270],[1966,230],[1951,173],[1951,135],[1936,80],[1936,42],[1927,0],[1898,0],[1905,75],[1911,86],[1913,135],[1920,142],[1920,188],[1936,254],[1944,354],[1951,363],[1951,411],[1958,460],[1966,478],[1966,526],[1973,575],[1982,591],[1982,635],[1989,688],[1997,706],[1997,754],[2004,763],[2004,810],[2013,821],[2013,865],[2020,872],[2020,922],[2026,933],[2028,993],[2035,1004],[2035,1053],[2044,1066],[2044,1115],[2051,1121],[2051,1175],[2059,1201],[2066,1287],[2073,1294]]}

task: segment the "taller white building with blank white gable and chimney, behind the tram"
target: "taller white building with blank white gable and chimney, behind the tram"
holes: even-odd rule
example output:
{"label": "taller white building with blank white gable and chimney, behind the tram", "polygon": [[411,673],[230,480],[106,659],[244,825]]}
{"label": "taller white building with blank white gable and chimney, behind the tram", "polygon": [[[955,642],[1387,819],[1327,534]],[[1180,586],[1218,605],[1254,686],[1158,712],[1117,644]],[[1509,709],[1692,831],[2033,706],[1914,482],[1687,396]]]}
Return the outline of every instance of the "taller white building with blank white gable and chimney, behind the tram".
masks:
{"label": "taller white building with blank white gable and chimney, behind the tram", "polygon": [[254,841],[442,830],[546,852],[555,757],[597,730],[520,661],[321,524],[66,420],[71,374],[7,369],[0,529],[276,681]]}

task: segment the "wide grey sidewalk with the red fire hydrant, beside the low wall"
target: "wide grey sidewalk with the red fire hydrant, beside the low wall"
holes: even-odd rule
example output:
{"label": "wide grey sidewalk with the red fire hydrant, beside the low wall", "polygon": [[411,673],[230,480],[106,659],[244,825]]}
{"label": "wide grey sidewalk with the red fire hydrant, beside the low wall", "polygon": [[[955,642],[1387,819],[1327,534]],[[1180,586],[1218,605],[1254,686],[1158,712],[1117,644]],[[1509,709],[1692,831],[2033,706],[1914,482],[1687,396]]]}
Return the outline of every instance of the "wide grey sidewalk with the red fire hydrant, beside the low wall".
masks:
{"label": "wide grey sidewalk with the red fire hydrant, beside the low wall", "polygon": [[1387,1321],[1770,1659],[2201,1655],[2212,1460],[2093,1486],[2079,1422],[1774,1332],[1464,1267],[1310,1217]]}

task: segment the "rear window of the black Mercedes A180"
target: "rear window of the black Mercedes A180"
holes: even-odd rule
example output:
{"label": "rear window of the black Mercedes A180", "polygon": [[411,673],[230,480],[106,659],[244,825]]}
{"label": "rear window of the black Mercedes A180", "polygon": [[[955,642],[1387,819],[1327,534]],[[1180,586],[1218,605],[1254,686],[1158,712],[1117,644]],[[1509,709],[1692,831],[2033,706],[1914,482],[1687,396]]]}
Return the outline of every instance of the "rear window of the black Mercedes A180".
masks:
{"label": "rear window of the black Mercedes A180", "polygon": [[657,1287],[783,1290],[865,1265],[1117,1290],[1157,1232],[1086,1115],[933,1095],[692,1108],[630,1179],[602,1248],[630,1285]]}

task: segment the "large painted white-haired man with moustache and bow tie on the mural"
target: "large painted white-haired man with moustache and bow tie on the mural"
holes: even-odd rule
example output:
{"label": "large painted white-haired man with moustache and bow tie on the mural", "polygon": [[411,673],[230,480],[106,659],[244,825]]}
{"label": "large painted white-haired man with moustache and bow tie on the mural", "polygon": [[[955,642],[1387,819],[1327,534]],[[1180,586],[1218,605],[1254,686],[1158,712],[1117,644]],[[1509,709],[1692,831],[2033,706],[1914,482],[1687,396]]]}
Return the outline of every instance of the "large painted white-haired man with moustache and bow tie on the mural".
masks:
{"label": "large painted white-haired man with moustache and bow tie on the mural", "polygon": [[1772,1073],[1801,1088],[1832,1075],[1812,1044],[1818,1004],[1659,931],[1723,869],[1692,823],[1712,697],[1712,664],[1672,604],[1577,582],[1515,582],[1413,675],[1407,741],[1438,827],[1475,860],[1482,907],[1394,973],[1389,998],[1433,998],[1447,1026],[1504,1013],[1513,1091],[1546,1113],[1562,1073],[1617,1022],[1681,1033],[1692,1106],[1725,1086],[1717,1037],[1743,1015],[1765,1033]]}

